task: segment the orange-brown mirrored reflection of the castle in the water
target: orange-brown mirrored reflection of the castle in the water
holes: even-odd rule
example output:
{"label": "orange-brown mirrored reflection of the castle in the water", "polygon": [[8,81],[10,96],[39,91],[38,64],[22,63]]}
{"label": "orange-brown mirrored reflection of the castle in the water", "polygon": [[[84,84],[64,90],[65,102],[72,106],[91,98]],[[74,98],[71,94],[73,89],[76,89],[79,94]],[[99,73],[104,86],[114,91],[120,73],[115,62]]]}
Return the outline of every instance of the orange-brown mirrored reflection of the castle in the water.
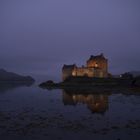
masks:
{"label": "orange-brown mirrored reflection of the castle in the water", "polygon": [[109,108],[108,96],[109,94],[98,92],[63,90],[63,103],[64,105],[85,104],[92,113],[104,114]]}

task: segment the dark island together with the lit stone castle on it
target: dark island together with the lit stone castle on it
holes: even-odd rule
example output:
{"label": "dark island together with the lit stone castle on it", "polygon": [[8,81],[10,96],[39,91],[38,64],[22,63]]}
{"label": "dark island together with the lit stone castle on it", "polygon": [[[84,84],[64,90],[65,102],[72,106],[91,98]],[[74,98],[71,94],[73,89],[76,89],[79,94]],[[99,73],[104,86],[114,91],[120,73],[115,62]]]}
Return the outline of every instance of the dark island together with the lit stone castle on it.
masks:
{"label": "dark island together with the lit stone castle on it", "polygon": [[52,80],[39,85],[42,88],[86,88],[95,87],[140,87],[140,77],[133,77],[124,73],[114,77],[108,72],[108,59],[101,53],[93,56],[86,62],[86,66],[77,67],[76,64],[64,65],[62,68],[62,82]]}

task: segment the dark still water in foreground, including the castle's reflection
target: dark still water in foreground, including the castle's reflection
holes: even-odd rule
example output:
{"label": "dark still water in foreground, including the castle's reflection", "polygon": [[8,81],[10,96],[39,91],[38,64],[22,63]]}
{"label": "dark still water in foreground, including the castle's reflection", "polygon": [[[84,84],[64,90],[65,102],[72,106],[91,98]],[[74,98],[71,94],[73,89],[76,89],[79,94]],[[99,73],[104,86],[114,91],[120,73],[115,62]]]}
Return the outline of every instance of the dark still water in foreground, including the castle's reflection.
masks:
{"label": "dark still water in foreground, including the castle's reflection", "polygon": [[139,140],[140,92],[2,86],[0,140],[40,139]]}

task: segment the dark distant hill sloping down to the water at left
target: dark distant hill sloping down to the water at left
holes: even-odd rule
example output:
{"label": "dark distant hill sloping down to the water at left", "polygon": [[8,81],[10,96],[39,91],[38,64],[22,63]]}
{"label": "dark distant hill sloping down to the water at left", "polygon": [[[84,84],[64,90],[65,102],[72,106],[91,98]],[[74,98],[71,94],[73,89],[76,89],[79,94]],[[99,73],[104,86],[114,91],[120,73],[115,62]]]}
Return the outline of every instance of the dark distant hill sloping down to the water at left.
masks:
{"label": "dark distant hill sloping down to the water at left", "polygon": [[31,76],[22,76],[13,72],[0,69],[0,81],[35,81]]}

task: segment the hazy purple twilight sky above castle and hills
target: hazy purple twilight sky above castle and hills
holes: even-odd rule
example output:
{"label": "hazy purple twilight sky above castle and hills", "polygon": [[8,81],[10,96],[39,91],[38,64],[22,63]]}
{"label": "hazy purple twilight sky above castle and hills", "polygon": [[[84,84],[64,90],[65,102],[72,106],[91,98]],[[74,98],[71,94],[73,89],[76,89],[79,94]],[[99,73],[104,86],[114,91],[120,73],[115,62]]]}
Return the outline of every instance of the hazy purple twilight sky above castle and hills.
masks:
{"label": "hazy purple twilight sky above castle and hills", "polygon": [[0,0],[0,68],[55,79],[102,52],[140,70],[140,0]]}

